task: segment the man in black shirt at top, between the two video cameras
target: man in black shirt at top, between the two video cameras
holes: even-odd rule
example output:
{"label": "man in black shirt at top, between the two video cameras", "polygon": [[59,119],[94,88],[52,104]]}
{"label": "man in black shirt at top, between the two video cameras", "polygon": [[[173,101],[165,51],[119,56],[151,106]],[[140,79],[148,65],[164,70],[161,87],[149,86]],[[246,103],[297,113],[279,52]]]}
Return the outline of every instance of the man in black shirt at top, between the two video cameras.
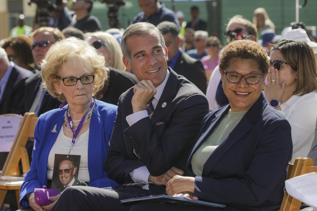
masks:
{"label": "man in black shirt at top, between the two video cameras", "polygon": [[92,8],[92,0],[73,0],[71,10],[75,12],[76,22],[72,23],[72,26],[80,29],[84,33],[100,31],[100,21],[97,17],[90,15]]}

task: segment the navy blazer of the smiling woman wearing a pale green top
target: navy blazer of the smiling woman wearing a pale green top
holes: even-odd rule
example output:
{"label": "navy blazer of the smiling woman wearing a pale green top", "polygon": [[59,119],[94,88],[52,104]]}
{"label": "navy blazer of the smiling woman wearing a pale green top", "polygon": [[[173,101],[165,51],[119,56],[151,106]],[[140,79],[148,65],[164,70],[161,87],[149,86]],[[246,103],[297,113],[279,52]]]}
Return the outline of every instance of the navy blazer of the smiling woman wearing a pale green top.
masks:
{"label": "navy blazer of the smiling woman wearing a pale green top", "polygon": [[[205,116],[187,163],[228,113],[230,105]],[[291,127],[267,105],[261,94],[233,131],[211,153],[202,177],[195,178],[194,195],[226,204],[230,210],[277,210],[284,195],[286,168],[292,157]]]}

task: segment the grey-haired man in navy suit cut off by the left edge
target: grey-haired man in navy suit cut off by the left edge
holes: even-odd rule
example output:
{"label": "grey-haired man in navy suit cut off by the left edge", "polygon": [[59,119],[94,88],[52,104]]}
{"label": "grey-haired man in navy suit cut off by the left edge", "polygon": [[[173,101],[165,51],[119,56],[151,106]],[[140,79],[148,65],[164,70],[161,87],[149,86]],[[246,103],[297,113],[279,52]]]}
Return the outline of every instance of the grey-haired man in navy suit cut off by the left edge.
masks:
{"label": "grey-haired man in navy suit cut off by the left edge", "polygon": [[16,114],[23,97],[24,81],[33,73],[10,62],[0,48],[0,115]]}

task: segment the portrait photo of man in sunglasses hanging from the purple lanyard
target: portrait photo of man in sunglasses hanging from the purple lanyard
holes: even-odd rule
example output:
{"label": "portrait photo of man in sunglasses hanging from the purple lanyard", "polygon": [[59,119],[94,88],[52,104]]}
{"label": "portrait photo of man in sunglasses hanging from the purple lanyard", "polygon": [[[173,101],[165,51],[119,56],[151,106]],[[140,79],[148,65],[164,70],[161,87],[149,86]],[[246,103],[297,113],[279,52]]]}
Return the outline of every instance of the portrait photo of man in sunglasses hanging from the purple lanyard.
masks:
{"label": "portrait photo of man in sunglasses hanging from the purple lanyard", "polygon": [[77,185],[80,155],[55,154],[51,188],[63,192],[68,186]]}

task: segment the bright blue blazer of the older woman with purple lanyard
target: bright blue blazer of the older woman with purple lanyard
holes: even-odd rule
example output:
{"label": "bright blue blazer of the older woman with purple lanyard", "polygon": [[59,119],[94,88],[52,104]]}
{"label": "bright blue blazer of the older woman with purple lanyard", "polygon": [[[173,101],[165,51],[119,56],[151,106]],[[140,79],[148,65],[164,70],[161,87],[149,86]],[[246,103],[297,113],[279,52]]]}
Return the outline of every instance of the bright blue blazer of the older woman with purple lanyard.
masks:
{"label": "bright blue blazer of the older woman with purple lanyard", "polygon": [[[104,170],[104,162],[109,148],[109,140],[116,118],[117,106],[95,100],[96,105],[91,115],[88,140],[89,186],[115,187],[118,184],[109,179]],[[29,206],[26,195],[34,188],[47,185],[47,163],[49,152],[61,130],[65,110],[54,109],[40,115],[35,127],[35,148],[33,149],[30,170],[25,174],[20,193],[20,206]],[[57,133],[51,130],[57,124]]]}

